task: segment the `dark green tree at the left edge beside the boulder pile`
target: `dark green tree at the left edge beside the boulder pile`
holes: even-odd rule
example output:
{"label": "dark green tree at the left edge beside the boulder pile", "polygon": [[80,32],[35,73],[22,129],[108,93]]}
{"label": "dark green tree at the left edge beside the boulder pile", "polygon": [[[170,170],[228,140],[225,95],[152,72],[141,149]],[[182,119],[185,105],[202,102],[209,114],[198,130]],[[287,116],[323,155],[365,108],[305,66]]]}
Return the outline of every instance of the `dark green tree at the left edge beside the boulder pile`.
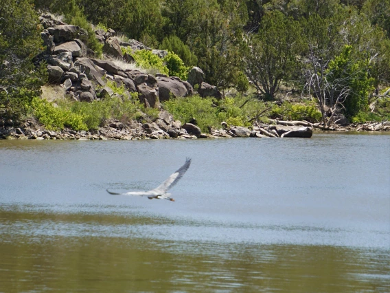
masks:
{"label": "dark green tree at the left edge beside the boulder pile", "polygon": [[32,63],[44,49],[41,25],[27,0],[2,1],[0,15],[0,116],[17,122],[47,80],[45,64]]}

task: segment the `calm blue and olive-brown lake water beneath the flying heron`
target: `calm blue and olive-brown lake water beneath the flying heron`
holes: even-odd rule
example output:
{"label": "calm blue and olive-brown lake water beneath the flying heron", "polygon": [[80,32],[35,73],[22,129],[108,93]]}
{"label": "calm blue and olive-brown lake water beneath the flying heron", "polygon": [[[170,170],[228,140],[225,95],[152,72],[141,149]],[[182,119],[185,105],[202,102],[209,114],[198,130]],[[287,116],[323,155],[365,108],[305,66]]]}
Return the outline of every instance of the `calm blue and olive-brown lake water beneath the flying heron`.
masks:
{"label": "calm blue and olive-brown lake water beneath the flying heron", "polygon": [[0,292],[47,291],[390,292],[390,135],[0,140]]}

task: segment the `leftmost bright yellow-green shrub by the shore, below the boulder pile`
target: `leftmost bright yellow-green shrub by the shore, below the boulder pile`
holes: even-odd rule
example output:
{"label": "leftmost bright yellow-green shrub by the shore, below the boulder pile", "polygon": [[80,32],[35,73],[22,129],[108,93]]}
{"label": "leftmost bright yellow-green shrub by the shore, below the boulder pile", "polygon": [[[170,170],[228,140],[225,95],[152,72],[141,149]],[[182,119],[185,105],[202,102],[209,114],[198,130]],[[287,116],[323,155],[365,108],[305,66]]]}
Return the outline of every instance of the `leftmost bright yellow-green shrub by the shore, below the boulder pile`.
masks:
{"label": "leftmost bright yellow-green shrub by the shore, below the boulder pile", "polygon": [[83,122],[84,117],[82,115],[56,108],[47,100],[34,98],[32,100],[32,109],[34,116],[47,129],[58,130],[70,127],[75,130],[88,130],[87,124]]}

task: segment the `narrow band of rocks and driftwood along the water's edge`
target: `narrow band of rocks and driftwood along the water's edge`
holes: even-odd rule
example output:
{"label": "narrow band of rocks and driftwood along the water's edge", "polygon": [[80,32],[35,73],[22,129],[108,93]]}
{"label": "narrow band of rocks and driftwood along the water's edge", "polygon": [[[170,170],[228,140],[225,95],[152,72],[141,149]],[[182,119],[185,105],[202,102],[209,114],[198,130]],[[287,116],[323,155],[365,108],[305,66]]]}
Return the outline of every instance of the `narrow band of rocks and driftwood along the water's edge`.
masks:
{"label": "narrow band of rocks and driftwood along the water's edge", "polygon": [[[279,121],[279,123],[282,121]],[[301,122],[304,124],[304,122]],[[290,125],[284,125],[290,124]],[[390,122],[373,122],[350,124],[347,127],[318,129],[299,125],[299,122],[283,122],[282,124],[258,124],[253,127],[227,127],[222,123],[220,129],[209,129],[202,133],[195,124],[181,124],[165,111],[152,123],[136,121],[122,123],[119,120],[108,120],[104,127],[93,131],[74,131],[62,129],[51,131],[45,129],[36,120],[26,119],[19,125],[2,125],[0,139],[19,140],[148,140],[148,139],[198,139],[198,138],[311,138],[314,129],[322,131],[390,131]]]}

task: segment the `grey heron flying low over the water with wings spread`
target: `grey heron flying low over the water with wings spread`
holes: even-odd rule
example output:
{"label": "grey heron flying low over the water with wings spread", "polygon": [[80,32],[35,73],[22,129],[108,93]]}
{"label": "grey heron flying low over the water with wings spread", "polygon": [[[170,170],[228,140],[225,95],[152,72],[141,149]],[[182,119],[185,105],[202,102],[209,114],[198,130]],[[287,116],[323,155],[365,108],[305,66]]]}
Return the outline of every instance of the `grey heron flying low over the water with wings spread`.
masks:
{"label": "grey heron flying low over the water with wings spread", "polygon": [[172,197],[169,197],[171,194],[167,193],[168,189],[174,186],[181,177],[183,177],[185,171],[190,168],[191,158],[186,158],[185,163],[181,166],[175,173],[170,175],[167,180],[161,183],[157,188],[152,189],[151,191],[129,191],[127,193],[113,193],[112,191],[106,191],[111,195],[138,195],[138,196],[147,196],[148,199],[168,199],[171,202],[174,202]]}

